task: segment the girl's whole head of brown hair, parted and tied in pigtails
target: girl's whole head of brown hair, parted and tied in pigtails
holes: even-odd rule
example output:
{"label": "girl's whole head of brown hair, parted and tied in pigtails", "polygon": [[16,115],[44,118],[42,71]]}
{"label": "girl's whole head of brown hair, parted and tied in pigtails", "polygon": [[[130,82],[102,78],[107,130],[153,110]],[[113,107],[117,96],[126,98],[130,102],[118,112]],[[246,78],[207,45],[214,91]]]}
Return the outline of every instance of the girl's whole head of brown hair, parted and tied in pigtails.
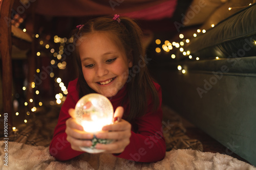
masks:
{"label": "girl's whole head of brown hair, parted and tied in pigtails", "polygon": [[[78,65],[78,90],[80,98],[83,95],[95,92],[89,87],[86,80],[84,80],[82,74],[81,60],[78,53],[79,39],[83,36],[95,32],[106,32],[112,35],[116,35],[118,41],[121,43],[120,47],[124,49],[124,52],[129,61],[132,61],[133,67],[129,70],[129,77],[127,79],[127,97],[130,103],[130,113],[127,113],[125,119],[131,121],[136,117],[140,117],[145,114],[147,108],[148,99],[152,98],[153,107],[157,109],[159,107],[158,92],[152,82],[152,78],[145,62],[145,49],[141,44],[142,31],[137,23],[130,18],[120,17],[120,23],[117,20],[113,20],[113,17],[98,17],[92,19],[84,24],[74,36],[75,59]],[[123,101],[125,102],[125,101]]]}

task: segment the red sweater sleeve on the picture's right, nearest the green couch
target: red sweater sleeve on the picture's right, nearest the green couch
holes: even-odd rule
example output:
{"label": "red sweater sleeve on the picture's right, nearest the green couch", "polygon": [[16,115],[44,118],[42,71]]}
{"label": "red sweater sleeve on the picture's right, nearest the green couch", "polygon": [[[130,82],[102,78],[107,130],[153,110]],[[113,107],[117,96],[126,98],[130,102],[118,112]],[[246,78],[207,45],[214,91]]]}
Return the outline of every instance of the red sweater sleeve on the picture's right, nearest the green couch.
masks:
{"label": "red sweater sleeve on the picture's right, nearest the green couch", "polygon": [[[166,145],[162,129],[162,92],[161,87],[154,84],[160,100],[159,108],[156,111],[148,109],[144,116],[136,119],[138,131],[132,131],[130,144],[121,154],[114,156],[136,162],[156,162],[164,158]],[[152,101],[149,101],[148,108],[152,108]]]}

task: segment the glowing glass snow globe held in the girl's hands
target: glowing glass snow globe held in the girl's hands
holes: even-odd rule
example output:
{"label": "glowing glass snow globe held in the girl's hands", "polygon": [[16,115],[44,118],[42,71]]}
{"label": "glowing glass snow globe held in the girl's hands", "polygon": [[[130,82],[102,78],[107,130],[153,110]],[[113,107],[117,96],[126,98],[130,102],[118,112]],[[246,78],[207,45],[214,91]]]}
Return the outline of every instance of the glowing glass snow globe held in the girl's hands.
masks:
{"label": "glowing glass snow globe held in the girl's hands", "polygon": [[[77,122],[86,132],[94,133],[102,131],[102,127],[110,125],[113,119],[113,106],[108,98],[98,93],[84,95],[76,104],[75,115]],[[104,150],[95,149],[97,143],[108,144],[111,139],[98,139],[94,135],[91,147],[80,147],[88,153],[100,153]]]}

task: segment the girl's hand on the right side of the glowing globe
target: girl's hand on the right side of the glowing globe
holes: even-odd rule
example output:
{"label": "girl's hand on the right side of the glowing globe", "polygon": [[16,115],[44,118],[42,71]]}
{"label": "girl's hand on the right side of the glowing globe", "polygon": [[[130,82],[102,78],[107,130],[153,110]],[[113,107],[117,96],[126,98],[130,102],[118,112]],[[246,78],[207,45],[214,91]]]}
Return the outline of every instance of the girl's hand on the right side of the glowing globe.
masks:
{"label": "girl's hand on the right side of the glowing globe", "polygon": [[[119,106],[114,117],[123,116],[123,107]],[[118,123],[107,125],[102,128],[103,131],[96,134],[97,138],[101,139],[114,139],[116,141],[110,144],[96,144],[96,149],[105,150],[105,153],[118,154],[124,151],[125,147],[130,143],[131,137],[131,124],[124,119],[120,119]]]}

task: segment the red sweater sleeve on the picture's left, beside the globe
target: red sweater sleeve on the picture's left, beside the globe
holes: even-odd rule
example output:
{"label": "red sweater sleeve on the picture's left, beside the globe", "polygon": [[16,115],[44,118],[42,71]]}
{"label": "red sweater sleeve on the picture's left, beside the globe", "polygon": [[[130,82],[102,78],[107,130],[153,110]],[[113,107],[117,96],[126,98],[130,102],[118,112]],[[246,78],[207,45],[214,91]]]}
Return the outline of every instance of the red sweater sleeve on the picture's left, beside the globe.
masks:
{"label": "red sweater sleeve on the picture's left, beside the globe", "polygon": [[50,154],[54,156],[57,160],[64,161],[74,158],[83,152],[74,151],[71,148],[71,144],[67,141],[66,130],[66,120],[71,116],[68,113],[70,108],[75,108],[77,101],[79,100],[78,92],[76,90],[77,79],[71,81],[68,86],[68,95],[66,101],[63,103],[57,126],[55,127],[53,139],[50,144]]}

